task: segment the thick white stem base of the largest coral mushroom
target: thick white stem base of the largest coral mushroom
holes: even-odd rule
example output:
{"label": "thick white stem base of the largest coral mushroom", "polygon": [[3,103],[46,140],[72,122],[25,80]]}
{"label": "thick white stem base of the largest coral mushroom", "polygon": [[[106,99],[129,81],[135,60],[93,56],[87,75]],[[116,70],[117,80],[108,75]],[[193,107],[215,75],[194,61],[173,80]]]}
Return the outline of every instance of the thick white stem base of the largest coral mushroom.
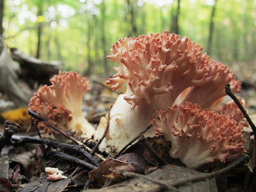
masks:
{"label": "thick white stem base of the largest coral mushroom", "polygon": [[[147,104],[138,105],[131,110],[131,105],[123,100],[121,94],[110,111],[109,131],[99,146],[111,156],[116,155],[126,144],[149,126],[154,111]],[[107,118],[102,117],[94,134],[94,140],[99,140],[107,127]],[[150,128],[145,137],[154,137],[154,129]]]}

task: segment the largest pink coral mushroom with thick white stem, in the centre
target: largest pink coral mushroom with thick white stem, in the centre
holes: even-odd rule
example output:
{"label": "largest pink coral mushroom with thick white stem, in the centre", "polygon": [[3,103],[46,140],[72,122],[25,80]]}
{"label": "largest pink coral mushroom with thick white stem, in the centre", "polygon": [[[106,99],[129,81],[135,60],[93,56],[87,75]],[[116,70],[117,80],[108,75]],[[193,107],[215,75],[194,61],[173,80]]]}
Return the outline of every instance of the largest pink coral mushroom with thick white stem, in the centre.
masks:
{"label": "largest pink coral mushroom with thick white stem, in the centre", "polygon": [[[197,103],[202,109],[224,110],[220,107],[225,85],[230,83],[234,93],[240,82],[221,63],[205,53],[203,48],[187,37],[169,34],[142,35],[119,39],[108,56],[119,67],[107,84],[113,90],[127,83],[125,94],[119,95],[110,111],[109,132],[100,145],[101,151],[114,155],[145,129],[156,110]],[[237,110],[238,111],[238,110]],[[104,133],[107,117],[102,118],[94,137]],[[154,129],[145,136],[154,136]]]}

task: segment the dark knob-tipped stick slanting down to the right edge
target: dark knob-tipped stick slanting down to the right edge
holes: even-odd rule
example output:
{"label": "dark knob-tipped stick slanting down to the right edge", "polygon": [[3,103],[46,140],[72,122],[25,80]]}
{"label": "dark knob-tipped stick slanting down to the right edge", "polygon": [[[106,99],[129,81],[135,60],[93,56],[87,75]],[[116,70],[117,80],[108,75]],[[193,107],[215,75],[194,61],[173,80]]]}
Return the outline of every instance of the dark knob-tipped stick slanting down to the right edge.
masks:
{"label": "dark knob-tipped stick slanting down to the right edge", "polygon": [[251,118],[249,117],[249,115],[247,114],[247,112],[245,111],[244,107],[242,106],[242,104],[239,102],[239,100],[237,99],[237,97],[234,95],[234,93],[232,93],[231,89],[230,89],[230,84],[227,84],[225,86],[225,92],[228,96],[231,97],[232,100],[234,100],[234,102],[237,104],[237,106],[239,107],[239,109],[242,111],[245,119],[248,121],[249,125],[251,126],[252,131],[254,132],[254,144],[256,145],[256,127],[254,125],[254,123],[251,121]]}

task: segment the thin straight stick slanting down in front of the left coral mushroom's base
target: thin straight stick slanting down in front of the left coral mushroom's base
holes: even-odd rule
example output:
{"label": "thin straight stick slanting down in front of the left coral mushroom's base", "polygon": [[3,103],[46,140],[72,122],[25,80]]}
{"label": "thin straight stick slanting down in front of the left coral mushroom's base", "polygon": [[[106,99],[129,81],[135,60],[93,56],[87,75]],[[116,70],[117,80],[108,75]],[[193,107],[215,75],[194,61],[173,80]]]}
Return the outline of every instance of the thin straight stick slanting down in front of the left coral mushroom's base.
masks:
{"label": "thin straight stick slanting down in front of the left coral mushroom's base", "polygon": [[[61,133],[62,135],[64,135],[65,137],[67,137],[68,139],[70,139],[71,141],[77,143],[78,145],[83,145],[83,147],[88,151],[91,152],[92,149],[90,149],[89,147],[87,147],[86,145],[84,145],[82,142],[76,140],[74,137],[71,137],[70,135],[66,134],[63,130],[59,130],[57,127],[53,126],[51,123],[48,123],[47,121],[45,121],[43,119],[43,117],[41,117],[40,115],[38,115],[36,112],[28,110],[28,114],[35,117],[36,119],[43,121],[47,126],[49,126],[50,128],[56,130],[57,132]],[[105,161],[106,159],[102,156],[100,156],[100,154],[95,153],[95,156],[97,156],[99,159],[101,159],[102,161]]]}

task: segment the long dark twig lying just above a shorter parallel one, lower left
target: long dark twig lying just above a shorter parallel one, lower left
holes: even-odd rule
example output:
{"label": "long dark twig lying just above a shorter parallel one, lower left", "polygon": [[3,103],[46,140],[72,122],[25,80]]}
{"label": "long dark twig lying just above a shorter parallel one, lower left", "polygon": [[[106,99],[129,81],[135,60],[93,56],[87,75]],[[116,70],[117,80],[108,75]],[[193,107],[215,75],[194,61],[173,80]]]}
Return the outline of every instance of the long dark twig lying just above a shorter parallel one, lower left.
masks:
{"label": "long dark twig lying just above a shorter parallel one, lower left", "polygon": [[33,144],[41,144],[47,145],[48,147],[52,147],[53,149],[61,149],[62,151],[72,151],[72,152],[79,152],[81,155],[85,156],[90,160],[90,162],[95,165],[99,166],[98,161],[81,145],[71,145],[59,142],[57,140],[51,138],[35,138],[35,137],[22,137],[22,136],[12,136],[12,141],[17,142],[18,145],[20,143],[33,143]]}

